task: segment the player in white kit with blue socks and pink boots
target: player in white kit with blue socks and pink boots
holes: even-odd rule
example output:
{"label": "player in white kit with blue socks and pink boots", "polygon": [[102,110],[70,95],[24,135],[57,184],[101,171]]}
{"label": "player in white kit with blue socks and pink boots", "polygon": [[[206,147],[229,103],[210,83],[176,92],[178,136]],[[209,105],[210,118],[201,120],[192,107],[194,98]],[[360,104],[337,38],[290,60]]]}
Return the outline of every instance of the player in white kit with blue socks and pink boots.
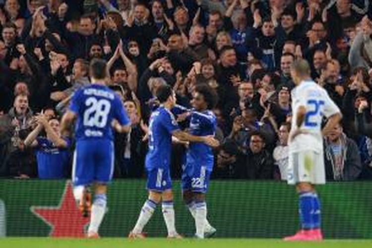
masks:
{"label": "player in white kit with blue socks and pink boots", "polygon": [[[341,113],[327,92],[310,78],[306,60],[294,62],[291,74],[292,127],[289,137],[288,184],[296,185],[302,228],[287,241],[320,241],[320,202],[314,185],[325,184],[323,136],[341,120]],[[328,121],[321,129],[323,118]]]}

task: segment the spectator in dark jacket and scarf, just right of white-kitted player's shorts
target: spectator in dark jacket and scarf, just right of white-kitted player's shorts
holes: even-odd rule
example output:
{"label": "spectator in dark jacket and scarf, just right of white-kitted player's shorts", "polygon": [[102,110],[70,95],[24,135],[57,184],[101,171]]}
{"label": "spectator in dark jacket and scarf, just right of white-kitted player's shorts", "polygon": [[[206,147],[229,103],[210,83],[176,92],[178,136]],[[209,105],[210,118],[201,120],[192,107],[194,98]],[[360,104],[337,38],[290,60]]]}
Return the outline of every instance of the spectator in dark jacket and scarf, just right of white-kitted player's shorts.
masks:
{"label": "spectator in dark jacket and scarf, just right of white-kitted player's shorts", "polygon": [[362,172],[358,146],[337,124],[324,142],[324,163],[327,180],[353,181]]}

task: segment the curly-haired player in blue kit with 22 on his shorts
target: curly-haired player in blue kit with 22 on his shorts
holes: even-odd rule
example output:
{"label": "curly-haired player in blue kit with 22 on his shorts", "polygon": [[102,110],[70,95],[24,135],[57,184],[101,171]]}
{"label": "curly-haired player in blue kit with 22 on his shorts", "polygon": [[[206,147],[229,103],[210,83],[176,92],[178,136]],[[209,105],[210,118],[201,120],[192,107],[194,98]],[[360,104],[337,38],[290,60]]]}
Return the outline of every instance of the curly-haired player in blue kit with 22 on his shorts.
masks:
{"label": "curly-haired player in blue kit with 22 on his shorts", "polygon": [[[191,101],[193,109],[189,112],[189,132],[196,136],[214,135],[216,117],[212,112],[217,102],[217,94],[208,85],[197,85]],[[182,191],[184,201],[195,219],[195,238],[203,239],[216,233],[207,220],[205,193],[213,170],[214,154],[212,147],[198,142],[190,142],[183,166]]]}

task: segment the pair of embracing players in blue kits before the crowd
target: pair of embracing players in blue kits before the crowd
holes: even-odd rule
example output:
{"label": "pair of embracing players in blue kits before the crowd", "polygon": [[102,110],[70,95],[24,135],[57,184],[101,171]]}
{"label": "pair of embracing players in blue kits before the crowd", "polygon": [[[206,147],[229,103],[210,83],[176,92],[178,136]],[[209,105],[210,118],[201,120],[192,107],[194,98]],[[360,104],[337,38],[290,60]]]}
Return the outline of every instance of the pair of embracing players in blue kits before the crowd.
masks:
{"label": "pair of embracing players in blue kits before the crowd", "polygon": [[[209,96],[209,97],[208,97]],[[191,111],[191,133],[181,131],[171,110],[176,105],[176,96],[170,86],[161,86],[157,90],[160,107],[154,111],[149,123],[149,152],[146,156],[147,189],[149,197],[142,207],[138,221],[130,232],[130,238],[144,238],[142,230],[155,211],[156,205],[162,200],[164,220],[168,229],[168,238],[180,238],[175,228],[175,213],[173,209],[173,192],[170,178],[170,159],[172,135],[184,141],[190,141],[187,152],[186,166],[182,178],[184,196],[192,216],[195,218],[196,237],[204,238],[204,233],[214,233],[215,229],[207,225],[207,209],[204,200],[208,180],[213,167],[213,153],[209,146],[218,146],[213,138],[216,129],[216,118],[208,111],[213,102],[213,96],[206,88],[197,88],[193,103],[196,111]],[[208,101],[209,100],[209,101]],[[202,104],[199,101],[203,102]],[[203,111],[198,112],[198,111]],[[200,152],[202,156],[198,156]],[[204,158],[204,159],[202,159]],[[209,230],[205,230],[208,227]]]}

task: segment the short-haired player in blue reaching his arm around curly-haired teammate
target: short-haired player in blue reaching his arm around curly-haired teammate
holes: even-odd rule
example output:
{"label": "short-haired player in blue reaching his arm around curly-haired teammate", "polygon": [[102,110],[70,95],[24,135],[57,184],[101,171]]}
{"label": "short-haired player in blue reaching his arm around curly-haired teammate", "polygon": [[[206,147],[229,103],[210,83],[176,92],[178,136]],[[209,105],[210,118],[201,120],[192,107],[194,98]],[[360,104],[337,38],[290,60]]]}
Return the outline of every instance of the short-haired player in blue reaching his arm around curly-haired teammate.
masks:
{"label": "short-haired player in blue reaching his arm around curly-haired teammate", "polygon": [[173,191],[170,177],[172,136],[182,141],[200,142],[218,146],[214,133],[204,136],[191,135],[180,130],[171,109],[176,104],[176,95],[169,85],[162,85],[156,93],[160,107],[150,117],[148,131],[148,153],[145,167],[149,196],[144,203],[138,220],[129,233],[129,238],[144,238],[143,228],[153,215],[157,204],[162,201],[163,217],[168,230],[168,238],[181,238],[175,227]]}

